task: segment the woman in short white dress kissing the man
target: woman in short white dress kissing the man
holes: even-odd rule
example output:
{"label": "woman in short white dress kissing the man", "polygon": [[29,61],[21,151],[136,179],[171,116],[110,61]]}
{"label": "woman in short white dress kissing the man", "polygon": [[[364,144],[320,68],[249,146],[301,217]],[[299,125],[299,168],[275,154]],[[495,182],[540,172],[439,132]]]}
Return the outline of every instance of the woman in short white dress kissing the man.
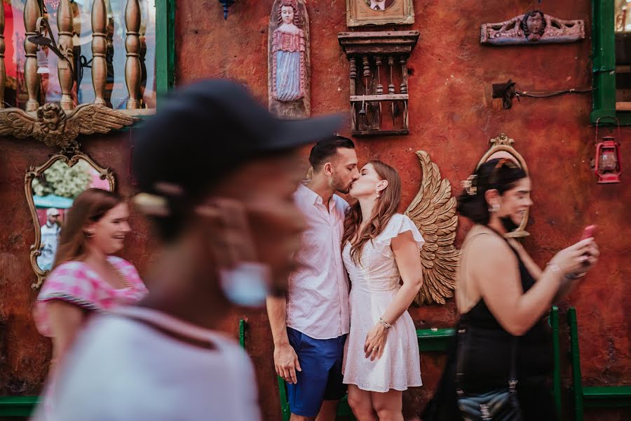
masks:
{"label": "woman in short white dress kissing the man", "polygon": [[[349,194],[342,258],[351,279],[351,332],[344,350],[348,404],[359,421],[402,421],[402,391],[421,386],[419,344],[407,308],[423,282],[423,237],[397,213],[401,180],[370,161]],[[402,281],[402,283],[401,283]]]}

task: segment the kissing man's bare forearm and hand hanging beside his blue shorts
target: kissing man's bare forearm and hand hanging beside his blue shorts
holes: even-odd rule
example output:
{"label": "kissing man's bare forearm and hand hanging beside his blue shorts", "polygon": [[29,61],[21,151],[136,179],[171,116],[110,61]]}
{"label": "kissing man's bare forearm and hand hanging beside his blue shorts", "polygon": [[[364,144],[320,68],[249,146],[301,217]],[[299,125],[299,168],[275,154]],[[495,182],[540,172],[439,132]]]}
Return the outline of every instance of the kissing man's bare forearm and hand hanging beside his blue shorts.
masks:
{"label": "kissing man's bare forearm and hand hanging beside his blue shorts", "polygon": [[286,382],[294,384],[296,370],[301,371],[298,356],[287,338],[287,299],[282,297],[268,297],[267,316],[274,341],[274,368],[276,374]]}

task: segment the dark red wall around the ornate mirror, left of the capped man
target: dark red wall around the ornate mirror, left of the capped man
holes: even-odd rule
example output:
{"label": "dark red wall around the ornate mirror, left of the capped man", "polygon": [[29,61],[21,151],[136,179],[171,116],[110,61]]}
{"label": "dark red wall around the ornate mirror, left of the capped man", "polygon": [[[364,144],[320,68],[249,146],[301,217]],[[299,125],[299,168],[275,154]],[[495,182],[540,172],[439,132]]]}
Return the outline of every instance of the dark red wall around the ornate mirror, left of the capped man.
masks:
{"label": "dark red wall around the ornate mirror, left of the capped man", "polygon": [[[130,195],[130,132],[88,138],[84,152],[116,175],[118,191]],[[85,140],[85,138],[80,140]],[[31,316],[37,292],[29,262],[35,231],[24,189],[25,173],[39,166],[54,151],[32,140],[0,140],[0,396],[38,394],[48,370],[50,341],[42,338]],[[133,232],[125,258],[144,272],[150,257],[147,225],[133,214]]]}

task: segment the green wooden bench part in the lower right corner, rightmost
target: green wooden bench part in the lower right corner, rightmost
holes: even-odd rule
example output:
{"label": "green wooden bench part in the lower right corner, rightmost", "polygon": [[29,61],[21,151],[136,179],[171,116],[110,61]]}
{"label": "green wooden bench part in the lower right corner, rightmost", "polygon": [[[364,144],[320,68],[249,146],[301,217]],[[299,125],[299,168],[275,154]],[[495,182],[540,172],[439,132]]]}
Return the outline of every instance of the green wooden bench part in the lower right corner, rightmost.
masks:
{"label": "green wooden bench part in the lower right corner, rightmost", "polygon": [[631,406],[631,386],[583,387],[581,355],[578,349],[578,323],[576,309],[567,312],[572,361],[572,392],[574,394],[574,420],[583,421],[583,408],[622,408]]}

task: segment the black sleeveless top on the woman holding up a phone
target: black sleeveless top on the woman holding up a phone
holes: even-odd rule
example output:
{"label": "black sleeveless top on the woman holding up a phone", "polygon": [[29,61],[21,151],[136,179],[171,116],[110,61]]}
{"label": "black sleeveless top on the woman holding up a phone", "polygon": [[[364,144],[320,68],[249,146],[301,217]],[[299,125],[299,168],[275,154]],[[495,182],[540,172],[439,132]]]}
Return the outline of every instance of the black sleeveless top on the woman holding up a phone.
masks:
{"label": "black sleeveless top on the woman holding up a phone", "polygon": [[[502,237],[503,238],[503,237]],[[510,244],[519,262],[524,293],[535,283],[519,253]],[[468,349],[464,361],[464,385],[468,392],[505,387],[510,369],[510,335],[498,323],[482,298],[465,314],[460,325],[466,326]],[[552,370],[552,340],[547,318],[542,318],[523,336],[517,338],[517,378],[541,377]]]}

